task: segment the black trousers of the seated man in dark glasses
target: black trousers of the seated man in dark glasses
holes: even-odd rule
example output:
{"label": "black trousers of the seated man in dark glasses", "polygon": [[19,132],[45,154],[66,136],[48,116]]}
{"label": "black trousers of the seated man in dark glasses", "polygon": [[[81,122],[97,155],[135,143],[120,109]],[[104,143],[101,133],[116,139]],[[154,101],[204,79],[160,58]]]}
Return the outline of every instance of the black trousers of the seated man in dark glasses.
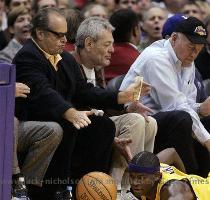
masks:
{"label": "black trousers of the seated man in dark glasses", "polygon": [[[76,184],[91,171],[108,173],[115,125],[108,117],[89,116],[91,124],[77,130],[68,121],[60,122],[64,134],[45,180],[64,187]],[[54,180],[54,182],[53,182]],[[58,186],[59,187],[59,186]]]}

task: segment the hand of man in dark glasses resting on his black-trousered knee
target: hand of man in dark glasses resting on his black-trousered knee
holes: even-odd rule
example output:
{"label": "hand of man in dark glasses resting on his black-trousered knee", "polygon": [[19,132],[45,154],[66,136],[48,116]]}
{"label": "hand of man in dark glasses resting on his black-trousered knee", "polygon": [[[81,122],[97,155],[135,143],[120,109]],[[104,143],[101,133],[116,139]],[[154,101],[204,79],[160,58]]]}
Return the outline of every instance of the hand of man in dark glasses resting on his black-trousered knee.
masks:
{"label": "hand of man in dark glasses resting on his black-trousered knee", "polygon": [[70,108],[64,113],[64,118],[71,122],[77,129],[80,129],[91,124],[88,116],[92,114],[94,113],[91,111],[78,111],[74,108]]}

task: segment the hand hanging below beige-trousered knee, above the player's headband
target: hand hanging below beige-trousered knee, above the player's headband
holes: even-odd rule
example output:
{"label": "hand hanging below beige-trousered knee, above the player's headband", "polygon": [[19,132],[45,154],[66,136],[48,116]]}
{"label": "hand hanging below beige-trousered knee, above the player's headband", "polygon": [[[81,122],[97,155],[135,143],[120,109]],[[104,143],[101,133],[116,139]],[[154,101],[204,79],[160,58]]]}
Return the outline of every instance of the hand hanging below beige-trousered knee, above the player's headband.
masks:
{"label": "hand hanging below beige-trousered knee, above the player's headband", "polygon": [[117,150],[124,156],[124,158],[127,160],[127,162],[130,162],[133,158],[131,154],[131,149],[129,147],[129,144],[132,142],[129,138],[114,138],[114,145],[117,148]]}

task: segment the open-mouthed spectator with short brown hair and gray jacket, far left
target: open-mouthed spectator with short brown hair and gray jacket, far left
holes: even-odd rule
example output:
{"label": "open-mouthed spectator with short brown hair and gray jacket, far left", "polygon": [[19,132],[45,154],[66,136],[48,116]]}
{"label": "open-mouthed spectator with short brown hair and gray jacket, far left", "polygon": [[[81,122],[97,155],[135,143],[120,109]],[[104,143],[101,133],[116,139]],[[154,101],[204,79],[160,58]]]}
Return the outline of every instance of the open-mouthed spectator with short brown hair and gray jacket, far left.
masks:
{"label": "open-mouthed spectator with short brown hair and gray jacket, far left", "polygon": [[14,8],[8,15],[8,25],[13,34],[9,44],[0,51],[0,62],[12,63],[15,54],[21,49],[22,45],[30,38],[31,14],[24,6]]}

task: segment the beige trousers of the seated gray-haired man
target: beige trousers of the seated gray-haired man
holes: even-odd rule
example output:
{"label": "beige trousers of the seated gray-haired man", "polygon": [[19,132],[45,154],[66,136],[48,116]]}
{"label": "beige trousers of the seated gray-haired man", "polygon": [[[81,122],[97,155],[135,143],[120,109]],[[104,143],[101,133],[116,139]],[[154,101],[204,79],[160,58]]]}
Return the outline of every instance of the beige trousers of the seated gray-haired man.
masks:
{"label": "beige trousers of the seated gray-haired man", "polygon": [[[110,118],[116,126],[115,135],[119,138],[130,138],[129,145],[132,155],[141,151],[153,152],[157,123],[152,117],[146,122],[144,117],[137,113],[128,113]],[[115,179],[118,190],[130,189],[129,176],[126,172],[128,163],[125,158],[114,150],[110,175]]]}

